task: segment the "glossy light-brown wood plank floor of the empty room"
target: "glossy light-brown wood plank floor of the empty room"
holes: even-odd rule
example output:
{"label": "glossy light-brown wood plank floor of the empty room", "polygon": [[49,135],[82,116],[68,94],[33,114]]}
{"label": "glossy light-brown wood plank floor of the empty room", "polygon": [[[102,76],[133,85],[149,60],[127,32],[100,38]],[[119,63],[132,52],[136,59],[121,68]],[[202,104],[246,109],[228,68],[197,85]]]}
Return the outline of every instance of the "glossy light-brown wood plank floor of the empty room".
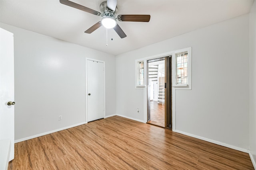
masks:
{"label": "glossy light-brown wood plank floor of the empty room", "polygon": [[15,144],[9,170],[253,170],[247,153],[109,117]]}

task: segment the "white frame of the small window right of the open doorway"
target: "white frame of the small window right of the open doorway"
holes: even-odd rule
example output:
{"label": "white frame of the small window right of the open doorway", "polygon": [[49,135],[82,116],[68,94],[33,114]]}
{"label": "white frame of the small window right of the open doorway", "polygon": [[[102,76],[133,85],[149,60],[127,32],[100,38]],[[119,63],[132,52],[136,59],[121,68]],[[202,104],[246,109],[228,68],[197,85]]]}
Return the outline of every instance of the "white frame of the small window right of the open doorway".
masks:
{"label": "white frame of the small window right of the open doorway", "polygon": [[[176,54],[188,52],[188,84],[177,84],[176,82]],[[176,50],[172,54],[172,87],[177,90],[191,90],[191,61],[192,61],[192,47]]]}

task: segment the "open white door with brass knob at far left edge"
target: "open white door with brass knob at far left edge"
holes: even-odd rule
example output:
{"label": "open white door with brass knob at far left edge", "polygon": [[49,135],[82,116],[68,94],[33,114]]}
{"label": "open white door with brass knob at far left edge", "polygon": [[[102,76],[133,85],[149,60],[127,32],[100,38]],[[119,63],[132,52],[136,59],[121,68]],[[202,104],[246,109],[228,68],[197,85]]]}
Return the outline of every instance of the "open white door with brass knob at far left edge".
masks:
{"label": "open white door with brass knob at far left edge", "polygon": [[[8,106],[8,102],[10,106]],[[6,154],[10,145],[8,160],[14,158],[14,44],[13,33],[0,28],[0,156]],[[4,156],[6,158],[6,156]],[[2,164],[2,162],[1,162]],[[2,166],[1,166],[2,167]],[[0,167],[0,169],[1,169]]]}

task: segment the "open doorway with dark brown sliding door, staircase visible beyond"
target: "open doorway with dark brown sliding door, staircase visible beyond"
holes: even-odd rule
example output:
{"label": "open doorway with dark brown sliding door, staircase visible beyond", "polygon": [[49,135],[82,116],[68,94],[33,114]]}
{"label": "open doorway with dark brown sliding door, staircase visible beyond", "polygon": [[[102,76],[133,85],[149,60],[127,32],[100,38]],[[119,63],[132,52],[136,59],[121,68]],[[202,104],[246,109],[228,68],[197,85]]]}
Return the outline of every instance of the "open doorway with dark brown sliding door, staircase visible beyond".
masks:
{"label": "open doorway with dark brown sliding door, staircase visible beyond", "polygon": [[147,123],[171,128],[170,56],[147,61]]}

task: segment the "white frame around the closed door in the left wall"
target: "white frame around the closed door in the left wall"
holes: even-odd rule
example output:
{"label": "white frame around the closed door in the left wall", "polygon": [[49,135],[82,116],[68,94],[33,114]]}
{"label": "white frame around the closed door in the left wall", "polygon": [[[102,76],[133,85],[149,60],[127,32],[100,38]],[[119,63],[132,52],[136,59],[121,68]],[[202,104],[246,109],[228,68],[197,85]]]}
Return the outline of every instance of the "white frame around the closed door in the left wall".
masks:
{"label": "white frame around the closed door in the left wall", "polygon": [[96,60],[96,59],[91,59],[91,58],[85,58],[85,123],[88,123],[88,70],[87,70],[87,62],[88,60],[90,61],[96,61],[96,62],[100,62],[103,63],[103,91],[104,91],[104,118],[106,118],[106,75],[105,75],[105,61],[101,61],[101,60]]}

